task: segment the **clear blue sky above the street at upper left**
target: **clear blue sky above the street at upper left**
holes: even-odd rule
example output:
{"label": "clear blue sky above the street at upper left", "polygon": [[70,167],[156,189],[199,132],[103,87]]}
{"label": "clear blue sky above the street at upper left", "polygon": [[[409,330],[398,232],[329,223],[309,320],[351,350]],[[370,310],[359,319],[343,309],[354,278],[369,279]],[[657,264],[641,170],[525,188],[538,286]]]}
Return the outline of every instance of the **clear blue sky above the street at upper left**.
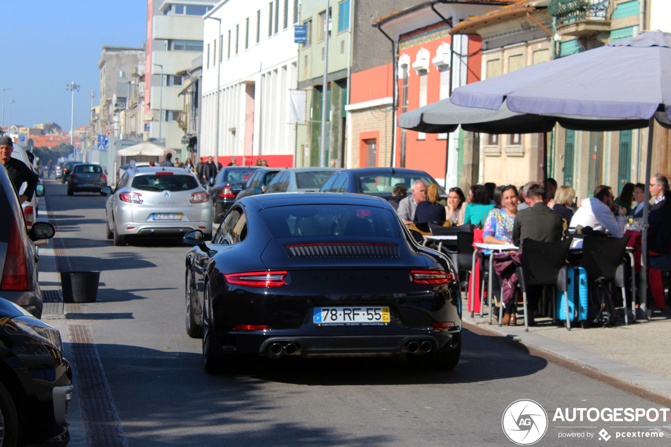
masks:
{"label": "clear blue sky above the street at upper left", "polygon": [[5,92],[5,125],[32,127],[54,121],[70,131],[74,92],[74,128],[89,123],[91,90],[99,103],[102,46],[141,47],[147,35],[146,0],[3,1],[0,88]]}

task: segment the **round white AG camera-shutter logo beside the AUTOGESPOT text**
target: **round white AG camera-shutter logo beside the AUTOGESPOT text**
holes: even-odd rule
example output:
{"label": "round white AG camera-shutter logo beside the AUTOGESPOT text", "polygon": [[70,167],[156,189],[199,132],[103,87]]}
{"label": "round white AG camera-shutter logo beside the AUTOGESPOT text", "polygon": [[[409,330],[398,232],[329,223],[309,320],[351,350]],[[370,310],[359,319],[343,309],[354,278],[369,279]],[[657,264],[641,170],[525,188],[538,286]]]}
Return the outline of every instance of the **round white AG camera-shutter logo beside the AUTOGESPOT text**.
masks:
{"label": "round white AG camera-shutter logo beside the AUTOGESPOT text", "polygon": [[519,399],[503,411],[501,426],[509,440],[519,446],[529,446],[546,434],[548,414],[539,403]]}

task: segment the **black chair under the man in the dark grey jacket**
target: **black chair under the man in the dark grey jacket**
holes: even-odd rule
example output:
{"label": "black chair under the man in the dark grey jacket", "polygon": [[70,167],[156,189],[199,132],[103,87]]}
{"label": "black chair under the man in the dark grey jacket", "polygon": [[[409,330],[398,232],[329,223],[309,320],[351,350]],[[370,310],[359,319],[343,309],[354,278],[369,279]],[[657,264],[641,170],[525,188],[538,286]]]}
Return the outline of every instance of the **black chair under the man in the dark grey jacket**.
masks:
{"label": "black chair under the man in the dark grey jacket", "polygon": [[[517,282],[522,291],[524,306],[524,331],[529,332],[529,310],[527,309],[527,288],[529,285],[554,285],[564,292],[566,301],[566,328],[571,330],[568,312],[568,288],[566,287],[566,257],[571,247],[572,238],[556,242],[539,242],[526,238],[523,241],[522,265],[517,267]],[[556,294],[553,298],[553,309],[556,312]],[[503,306],[501,306],[503,309]],[[499,324],[503,318],[503,310],[499,316]]]}

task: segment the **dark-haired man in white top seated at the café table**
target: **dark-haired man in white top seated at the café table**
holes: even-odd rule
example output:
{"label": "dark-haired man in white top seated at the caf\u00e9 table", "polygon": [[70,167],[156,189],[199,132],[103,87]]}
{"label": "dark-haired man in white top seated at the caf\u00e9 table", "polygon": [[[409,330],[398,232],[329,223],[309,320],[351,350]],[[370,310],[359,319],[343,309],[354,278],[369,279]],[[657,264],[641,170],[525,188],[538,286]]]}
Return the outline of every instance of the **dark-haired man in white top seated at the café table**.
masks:
{"label": "dark-haired man in white top seated at the caf\u00e9 table", "polygon": [[597,231],[608,230],[611,235],[615,237],[622,237],[625,231],[625,214],[627,209],[619,206],[619,216],[615,220],[611,206],[615,201],[613,191],[610,186],[598,186],[595,190],[594,197],[582,200],[580,208],[576,210],[571,218],[570,228],[578,227],[592,227]]}

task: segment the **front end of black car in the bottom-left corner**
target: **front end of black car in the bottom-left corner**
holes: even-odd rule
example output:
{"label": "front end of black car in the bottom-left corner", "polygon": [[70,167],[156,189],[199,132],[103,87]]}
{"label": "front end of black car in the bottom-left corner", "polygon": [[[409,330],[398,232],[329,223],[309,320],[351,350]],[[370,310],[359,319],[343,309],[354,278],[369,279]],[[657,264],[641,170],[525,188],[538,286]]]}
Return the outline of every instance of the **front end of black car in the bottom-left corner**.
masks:
{"label": "front end of black car in the bottom-left corner", "polygon": [[65,447],[72,369],[60,333],[1,298],[0,318],[1,445]]}

